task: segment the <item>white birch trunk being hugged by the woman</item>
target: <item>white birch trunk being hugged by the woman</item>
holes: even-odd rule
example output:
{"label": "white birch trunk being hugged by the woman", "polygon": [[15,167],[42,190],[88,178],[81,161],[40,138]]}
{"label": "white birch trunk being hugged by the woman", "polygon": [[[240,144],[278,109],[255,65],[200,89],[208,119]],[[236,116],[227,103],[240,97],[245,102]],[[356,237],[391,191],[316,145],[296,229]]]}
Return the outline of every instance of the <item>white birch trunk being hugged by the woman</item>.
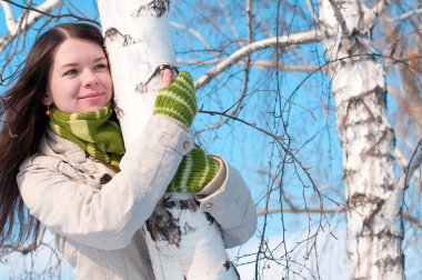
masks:
{"label": "white birch trunk being hugged by the woman", "polygon": [[[99,0],[98,7],[129,147],[152,114],[157,67],[175,66],[169,1]],[[237,279],[217,222],[199,210],[193,194],[164,196],[143,231],[155,279]]]}

